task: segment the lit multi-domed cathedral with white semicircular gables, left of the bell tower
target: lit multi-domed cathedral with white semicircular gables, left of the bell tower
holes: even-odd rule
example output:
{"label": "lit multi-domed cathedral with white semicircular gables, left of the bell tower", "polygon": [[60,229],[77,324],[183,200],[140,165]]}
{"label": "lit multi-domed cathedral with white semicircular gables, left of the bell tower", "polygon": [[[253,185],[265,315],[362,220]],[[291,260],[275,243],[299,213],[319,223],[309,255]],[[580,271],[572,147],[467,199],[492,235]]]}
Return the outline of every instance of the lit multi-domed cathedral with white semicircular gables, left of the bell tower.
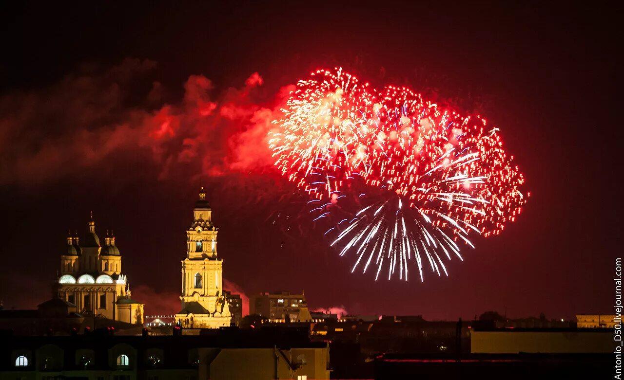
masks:
{"label": "lit multi-domed cathedral with white semicircular gables, left of the bell tower", "polygon": [[67,236],[54,287],[57,297],[76,305],[78,313],[85,316],[142,324],[144,304],[130,298],[121,259],[112,233],[107,232],[104,245],[100,244],[91,215],[89,232],[82,239],[77,233]]}

